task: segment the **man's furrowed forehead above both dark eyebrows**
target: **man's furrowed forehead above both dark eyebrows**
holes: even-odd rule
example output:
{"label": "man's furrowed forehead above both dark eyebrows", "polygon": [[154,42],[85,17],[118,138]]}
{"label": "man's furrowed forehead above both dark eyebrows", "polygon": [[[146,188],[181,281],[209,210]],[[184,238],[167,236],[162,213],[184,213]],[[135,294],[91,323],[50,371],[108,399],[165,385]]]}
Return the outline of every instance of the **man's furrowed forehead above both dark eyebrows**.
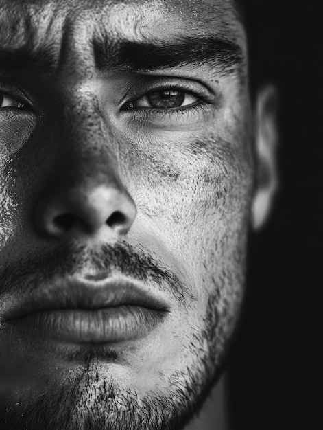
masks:
{"label": "man's furrowed forehead above both dark eyebrows", "polygon": [[[218,34],[243,45],[233,0],[0,0],[0,45],[60,46],[64,37],[171,41]],[[72,36],[73,37],[73,36]]]}

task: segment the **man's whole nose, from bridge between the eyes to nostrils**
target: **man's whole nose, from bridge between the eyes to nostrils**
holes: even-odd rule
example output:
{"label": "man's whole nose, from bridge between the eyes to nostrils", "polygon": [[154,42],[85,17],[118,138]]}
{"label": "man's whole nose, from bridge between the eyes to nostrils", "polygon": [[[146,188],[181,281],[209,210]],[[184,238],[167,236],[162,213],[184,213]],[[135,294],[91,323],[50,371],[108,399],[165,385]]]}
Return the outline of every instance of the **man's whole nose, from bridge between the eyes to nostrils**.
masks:
{"label": "man's whole nose, from bridge between the eyes to nostrils", "polygon": [[71,125],[62,127],[59,143],[49,144],[53,152],[40,174],[44,184],[34,224],[46,238],[117,238],[136,218],[136,205],[119,174],[126,169],[101,117],[84,115],[80,121],[80,111],[75,112],[78,121],[77,115],[67,117],[64,124]]}

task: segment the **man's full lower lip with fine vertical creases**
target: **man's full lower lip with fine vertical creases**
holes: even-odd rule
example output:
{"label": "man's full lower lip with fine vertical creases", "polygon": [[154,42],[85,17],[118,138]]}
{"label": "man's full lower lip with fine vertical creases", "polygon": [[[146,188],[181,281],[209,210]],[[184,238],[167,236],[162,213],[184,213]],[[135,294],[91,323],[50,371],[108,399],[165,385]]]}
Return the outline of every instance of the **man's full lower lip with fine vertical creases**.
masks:
{"label": "man's full lower lip with fine vertical creases", "polygon": [[142,306],[47,310],[7,320],[20,332],[69,343],[121,342],[145,337],[165,317]]}

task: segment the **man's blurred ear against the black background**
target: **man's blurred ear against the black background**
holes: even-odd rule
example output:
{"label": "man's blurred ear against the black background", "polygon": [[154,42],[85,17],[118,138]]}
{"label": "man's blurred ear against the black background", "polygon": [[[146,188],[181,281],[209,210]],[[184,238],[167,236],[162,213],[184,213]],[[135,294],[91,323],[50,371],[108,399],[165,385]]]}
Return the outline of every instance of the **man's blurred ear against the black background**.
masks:
{"label": "man's blurred ear against the black background", "polygon": [[276,88],[267,86],[259,91],[255,106],[256,187],[252,202],[252,225],[254,229],[261,227],[267,220],[278,188],[276,169],[277,104]]}

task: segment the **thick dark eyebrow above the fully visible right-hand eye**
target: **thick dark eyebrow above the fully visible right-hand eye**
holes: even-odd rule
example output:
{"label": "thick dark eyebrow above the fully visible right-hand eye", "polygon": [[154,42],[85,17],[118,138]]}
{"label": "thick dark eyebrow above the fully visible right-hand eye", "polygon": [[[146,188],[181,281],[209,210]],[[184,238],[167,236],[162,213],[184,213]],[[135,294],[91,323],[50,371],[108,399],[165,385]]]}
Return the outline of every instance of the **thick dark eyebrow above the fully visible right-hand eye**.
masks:
{"label": "thick dark eyebrow above the fully visible right-hand eye", "polygon": [[232,73],[241,68],[243,54],[239,45],[215,36],[183,37],[174,42],[117,44],[93,41],[99,69],[156,71],[176,66],[205,65],[218,73]]}

